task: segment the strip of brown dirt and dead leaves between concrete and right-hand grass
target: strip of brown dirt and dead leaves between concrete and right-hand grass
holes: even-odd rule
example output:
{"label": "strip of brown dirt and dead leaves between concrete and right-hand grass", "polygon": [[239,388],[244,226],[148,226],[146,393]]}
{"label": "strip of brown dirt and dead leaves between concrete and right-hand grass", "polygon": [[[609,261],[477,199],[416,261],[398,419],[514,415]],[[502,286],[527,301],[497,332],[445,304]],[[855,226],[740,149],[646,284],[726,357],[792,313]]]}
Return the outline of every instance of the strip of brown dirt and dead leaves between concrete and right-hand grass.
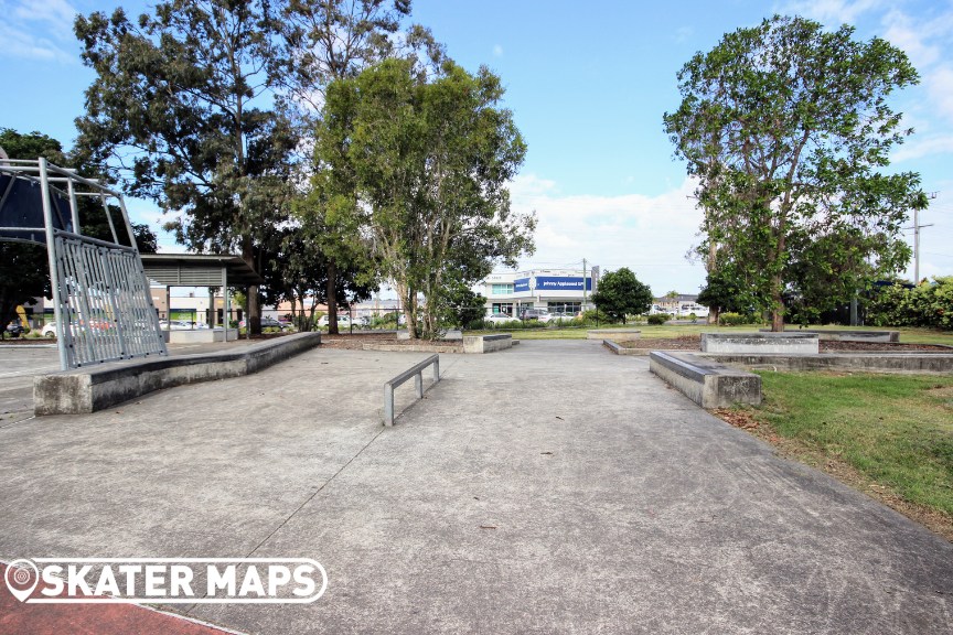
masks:
{"label": "strip of brown dirt and dead leaves between concrete and right-hand grass", "polygon": [[749,410],[717,409],[711,412],[722,421],[771,444],[780,456],[821,470],[953,542],[953,517],[923,505],[910,503],[890,488],[872,482],[837,456],[825,454],[800,441],[781,437],[770,423],[758,421]]}

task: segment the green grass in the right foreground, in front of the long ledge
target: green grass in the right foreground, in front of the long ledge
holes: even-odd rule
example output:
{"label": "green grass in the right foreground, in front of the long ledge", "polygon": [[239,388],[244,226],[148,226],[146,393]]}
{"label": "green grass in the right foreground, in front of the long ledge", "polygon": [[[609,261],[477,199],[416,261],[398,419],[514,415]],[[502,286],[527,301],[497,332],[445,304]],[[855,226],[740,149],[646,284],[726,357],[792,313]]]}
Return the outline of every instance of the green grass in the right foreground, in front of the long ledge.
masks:
{"label": "green grass in the right foreground, in front of the long ledge", "polygon": [[762,405],[722,419],[953,541],[953,377],[759,374]]}

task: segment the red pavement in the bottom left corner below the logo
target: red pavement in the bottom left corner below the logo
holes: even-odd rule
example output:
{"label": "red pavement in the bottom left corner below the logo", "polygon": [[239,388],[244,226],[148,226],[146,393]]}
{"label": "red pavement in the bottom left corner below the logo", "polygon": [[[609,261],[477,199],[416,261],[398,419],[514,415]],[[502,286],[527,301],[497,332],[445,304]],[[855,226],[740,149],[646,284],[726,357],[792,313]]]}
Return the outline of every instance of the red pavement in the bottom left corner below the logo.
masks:
{"label": "red pavement in the bottom left corner below the logo", "polygon": [[[7,589],[0,563],[0,635],[222,635],[234,633],[136,604],[24,604]],[[39,595],[39,592],[36,592]]]}

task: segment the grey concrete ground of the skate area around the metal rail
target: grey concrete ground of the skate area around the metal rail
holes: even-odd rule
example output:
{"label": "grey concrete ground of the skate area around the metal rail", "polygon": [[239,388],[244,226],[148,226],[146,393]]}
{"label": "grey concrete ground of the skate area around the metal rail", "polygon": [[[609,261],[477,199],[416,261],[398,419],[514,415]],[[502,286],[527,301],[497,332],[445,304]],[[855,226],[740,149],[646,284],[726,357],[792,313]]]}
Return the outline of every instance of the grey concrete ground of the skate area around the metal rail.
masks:
{"label": "grey concrete ground of the skate area around the metal rail", "polygon": [[[953,545],[590,341],[317,348],[257,375],[0,427],[0,560],[301,557],[244,633],[950,633]],[[426,376],[426,374],[425,374]],[[0,426],[3,422],[0,421]]]}

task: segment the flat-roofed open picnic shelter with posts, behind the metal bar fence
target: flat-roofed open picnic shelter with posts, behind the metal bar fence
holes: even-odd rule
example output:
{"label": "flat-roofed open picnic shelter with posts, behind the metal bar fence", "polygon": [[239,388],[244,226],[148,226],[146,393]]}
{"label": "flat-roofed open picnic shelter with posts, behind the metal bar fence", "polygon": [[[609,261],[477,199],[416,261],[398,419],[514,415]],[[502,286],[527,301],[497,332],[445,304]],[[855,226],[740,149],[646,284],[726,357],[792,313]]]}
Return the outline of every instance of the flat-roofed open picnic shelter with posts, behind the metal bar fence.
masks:
{"label": "flat-roofed open picnic shelter with posts, behind the metal bar fence", "polygon": [[[261,284],[263,278],[239,256],[223,254],[143,254],[142,266],[149,280],[165,287],[165,305],[171,308],[173,287],[208,287],[210,323],[207,332],[190,334],[171,333],[170,337],[190,341],[228,341],[238,337],[237,330],[228,329],[231,297],[228,287],[251,287]],[[225,305],[223,309],[222,331],[216,330],[213,288],[221,287]]]}

